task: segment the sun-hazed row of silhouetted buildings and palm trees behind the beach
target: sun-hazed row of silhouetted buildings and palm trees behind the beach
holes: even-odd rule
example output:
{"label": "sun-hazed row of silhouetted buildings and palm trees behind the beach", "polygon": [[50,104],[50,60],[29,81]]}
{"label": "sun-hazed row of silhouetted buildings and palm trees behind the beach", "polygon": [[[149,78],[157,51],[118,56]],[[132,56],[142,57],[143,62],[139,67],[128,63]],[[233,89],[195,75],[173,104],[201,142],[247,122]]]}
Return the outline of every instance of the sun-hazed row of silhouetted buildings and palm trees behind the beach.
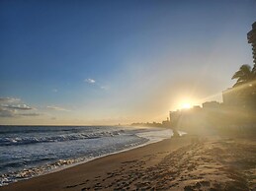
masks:
{"label": "sun-hazed row of silhouetted buildings and palm trees behind the beach", "polygon": [[170,126],[190,134],[256,135],[256,22],[247,33],[254,67],[242,65],[233,75],[237,82],[222,92],[223,102],[208,101],[191,109],[170,111]]}

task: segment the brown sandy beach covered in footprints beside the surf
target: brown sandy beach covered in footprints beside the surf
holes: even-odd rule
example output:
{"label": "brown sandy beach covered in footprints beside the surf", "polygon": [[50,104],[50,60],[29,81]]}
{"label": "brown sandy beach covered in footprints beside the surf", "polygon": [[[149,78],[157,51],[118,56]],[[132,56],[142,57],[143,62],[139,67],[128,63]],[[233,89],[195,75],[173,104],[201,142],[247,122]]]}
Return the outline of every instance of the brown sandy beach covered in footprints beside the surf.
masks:
{"label": "brown sandy beach covered in footprints beside the surf", "polygon": [[256,190],[256,139],[172,138],[0,190]]}

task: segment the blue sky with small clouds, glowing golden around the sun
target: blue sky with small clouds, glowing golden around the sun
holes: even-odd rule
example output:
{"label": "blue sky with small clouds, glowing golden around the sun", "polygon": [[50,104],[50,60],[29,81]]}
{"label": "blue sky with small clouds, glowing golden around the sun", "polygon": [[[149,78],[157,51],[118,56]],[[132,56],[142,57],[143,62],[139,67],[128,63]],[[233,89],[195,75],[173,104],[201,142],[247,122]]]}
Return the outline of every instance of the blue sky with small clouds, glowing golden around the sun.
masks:
{"label": "blue sky with small clouds, glowing golden around the sun", "polygon": [[222,101],[255,0],[0,1],[0,124],[161,121]]}

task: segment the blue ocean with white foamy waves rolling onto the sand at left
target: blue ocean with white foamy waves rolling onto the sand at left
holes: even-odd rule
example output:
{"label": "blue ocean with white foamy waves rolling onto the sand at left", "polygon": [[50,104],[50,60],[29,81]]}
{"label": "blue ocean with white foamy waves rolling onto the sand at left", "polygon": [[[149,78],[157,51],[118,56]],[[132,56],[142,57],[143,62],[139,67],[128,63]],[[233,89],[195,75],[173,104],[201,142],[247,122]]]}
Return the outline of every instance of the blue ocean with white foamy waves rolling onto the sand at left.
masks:
{"label": "blue ocean with white foamy waves rolling onto the sand at left", "polygon": [[0,126],[0,186],[158,142],[170,129]]}

